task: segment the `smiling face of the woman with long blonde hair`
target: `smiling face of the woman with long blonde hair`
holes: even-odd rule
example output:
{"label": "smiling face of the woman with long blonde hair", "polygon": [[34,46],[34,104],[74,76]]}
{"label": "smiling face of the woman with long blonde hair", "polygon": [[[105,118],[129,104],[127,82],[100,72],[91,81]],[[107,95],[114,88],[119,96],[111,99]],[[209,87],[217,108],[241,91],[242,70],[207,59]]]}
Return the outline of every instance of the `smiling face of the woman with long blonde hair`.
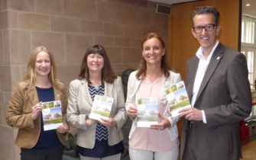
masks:
{"label": "smiling face of the woman with long blonde hair", "polygon": [[37,53],[37,58],[34,66],[34,70],[37,74],[37,78],[39,77],[47,77],[50,73],[50,56],[48,53],[42,51]]}

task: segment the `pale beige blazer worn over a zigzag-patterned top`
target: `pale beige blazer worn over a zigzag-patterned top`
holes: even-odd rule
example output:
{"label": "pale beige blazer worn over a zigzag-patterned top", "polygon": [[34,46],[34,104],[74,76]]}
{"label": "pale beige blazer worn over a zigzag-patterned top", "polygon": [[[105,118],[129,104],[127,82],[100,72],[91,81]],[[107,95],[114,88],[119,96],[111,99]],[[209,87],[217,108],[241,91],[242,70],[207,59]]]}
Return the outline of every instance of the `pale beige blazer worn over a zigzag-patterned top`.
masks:
{"label": "pale beige blazer worn over a zigzag-patterned top", "polygon": [[[105,82],[104,96],[114,98],[110,117],[113,117],[117,125],[108,127],[109,146],[113,146],[124,139],[122,126],[127,120],[125,112],[125,97],[120,77],[112,84]],[[67,108],[67,121],[76,127],[76,144],[83,148],[92,149],[95,145],[96,123],[86,126],[86,118],[92,110],[92,98],[89,94],[88,82],[85,80],[73,80],[70,82],[70,97]]]}

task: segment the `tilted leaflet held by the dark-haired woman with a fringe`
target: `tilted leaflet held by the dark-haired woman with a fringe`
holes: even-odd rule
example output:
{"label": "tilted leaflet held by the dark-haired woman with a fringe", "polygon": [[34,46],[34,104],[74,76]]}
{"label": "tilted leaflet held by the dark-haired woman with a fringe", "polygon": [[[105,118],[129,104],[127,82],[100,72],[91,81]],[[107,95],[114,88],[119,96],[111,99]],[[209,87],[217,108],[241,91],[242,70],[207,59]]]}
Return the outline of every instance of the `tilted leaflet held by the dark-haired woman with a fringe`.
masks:
{"label": "tilted leaflet held by the dark-haired woman with a fringe", "polygon": [[109,119],[114,98],[108,98],[101,95],[95,95],[92,111],[89,118],[100,120],[101,117]]}

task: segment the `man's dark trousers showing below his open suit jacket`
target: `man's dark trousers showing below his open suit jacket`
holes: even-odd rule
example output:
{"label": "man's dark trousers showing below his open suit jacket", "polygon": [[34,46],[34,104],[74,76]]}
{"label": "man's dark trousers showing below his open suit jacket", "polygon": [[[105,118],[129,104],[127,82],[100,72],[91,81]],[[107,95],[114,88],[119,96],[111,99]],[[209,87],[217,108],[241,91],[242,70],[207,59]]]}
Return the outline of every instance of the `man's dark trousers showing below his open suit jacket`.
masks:
{"label": "man's dark trousers showing below his open suit jacket", "polygon": [[196,160],[196,155],[193,151],[193,130],[190,126],[187,126],[186,129],[186,142],[182,160]]}

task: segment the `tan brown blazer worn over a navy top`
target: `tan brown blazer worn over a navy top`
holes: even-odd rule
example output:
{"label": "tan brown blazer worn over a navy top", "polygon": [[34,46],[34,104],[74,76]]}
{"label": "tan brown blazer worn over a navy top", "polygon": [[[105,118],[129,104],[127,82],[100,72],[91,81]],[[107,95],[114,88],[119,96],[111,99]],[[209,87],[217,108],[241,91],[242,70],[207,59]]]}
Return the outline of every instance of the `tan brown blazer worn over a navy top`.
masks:
{"label": "tan brown blazer worn over a navy top", "polygon": [[[36,120],[32,119],[32,107],[39,103],[37,89],[35,85],[29,88],[30,83],[19,82],[15,86],[15,91],[12,93],[8,108],[6,111],[6,121],[8,125],[18,127],[18,134],[15,144],[21,148],[30,149],[34,147],[41,132],[41,114]],[[63,83],[56,82],[53,86],[54,98],[56,101],[61,101],[63,125],[68,129],[66,123],[66,91]],[[57,133],[63,145],[66,144],[67,133]]]}

